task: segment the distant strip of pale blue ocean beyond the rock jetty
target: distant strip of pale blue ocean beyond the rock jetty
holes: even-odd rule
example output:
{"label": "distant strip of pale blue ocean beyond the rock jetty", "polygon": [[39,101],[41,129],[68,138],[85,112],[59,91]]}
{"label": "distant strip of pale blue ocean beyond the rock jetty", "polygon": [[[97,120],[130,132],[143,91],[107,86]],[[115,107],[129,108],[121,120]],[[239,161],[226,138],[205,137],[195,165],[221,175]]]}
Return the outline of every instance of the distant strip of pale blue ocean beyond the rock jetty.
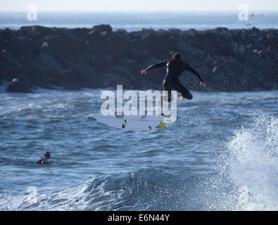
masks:
{"label": "distant strip of pale blue ocean beyond the rock jetty", "polygon": [[277,11],[249,11],[248,20],[239,20],[240,11],[192,11],[192,12],[37,12],[37,20],[28,20],[27,12],[0,12],[0,29],[9,27],[19,29],[22,26],[42,25],[45,27],[87,27],[109,24],[116,29],[127,31],[152,28],[154,30],[208,30],[216,27],[229,29],[278,29]]}

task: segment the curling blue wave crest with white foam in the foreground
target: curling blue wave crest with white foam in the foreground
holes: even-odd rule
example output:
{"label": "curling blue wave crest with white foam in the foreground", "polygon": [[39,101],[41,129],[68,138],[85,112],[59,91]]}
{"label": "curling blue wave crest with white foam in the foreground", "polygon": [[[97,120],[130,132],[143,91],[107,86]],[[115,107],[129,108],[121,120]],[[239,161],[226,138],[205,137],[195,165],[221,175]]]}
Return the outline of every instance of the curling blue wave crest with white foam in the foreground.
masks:
{"label": "curling blue wave crest with white foam in the foreground", "polygon": [[[80,186],[15,198],[4,195],[1,210],[236,210],[234,184],[217,174],[170,167],[141,168],[96,176]],[[9,201],[8,201],[9,200]]]}

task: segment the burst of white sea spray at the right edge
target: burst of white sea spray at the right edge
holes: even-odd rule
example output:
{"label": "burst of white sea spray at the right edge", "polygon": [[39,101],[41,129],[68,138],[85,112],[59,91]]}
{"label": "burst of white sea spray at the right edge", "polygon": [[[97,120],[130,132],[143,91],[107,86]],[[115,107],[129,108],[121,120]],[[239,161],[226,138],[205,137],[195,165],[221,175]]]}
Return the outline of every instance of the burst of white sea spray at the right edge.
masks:
{"label": "burst of white sea spray at the right edge", "polygon": [[229,143],[243,210],[278,210],[278,119],[260,116]]}

